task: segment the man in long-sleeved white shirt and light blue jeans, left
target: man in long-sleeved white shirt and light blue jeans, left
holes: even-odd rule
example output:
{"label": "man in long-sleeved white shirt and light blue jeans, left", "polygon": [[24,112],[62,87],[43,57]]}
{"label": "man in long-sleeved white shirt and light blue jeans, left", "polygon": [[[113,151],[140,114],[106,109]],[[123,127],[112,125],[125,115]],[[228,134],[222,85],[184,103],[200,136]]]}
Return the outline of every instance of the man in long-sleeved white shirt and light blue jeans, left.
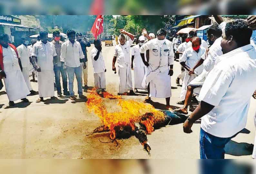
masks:
{"label": "man in long-sleeved white shirt and light blue jeans, left", "polygon": [[[75,31],[69,30],[67,35],[68,40],[61,45],[60,61],[62,62],[62,67],[67,68],[70,99],[76,99],[73,91],[74,74],[77,80],[79,98],[85,99],[86,97],[83,95],[83,72],[81,66],[83,65],[86,68],[84,53],[80,43],[75,40]],[[80,59],[82,63],[80,63]]]}

